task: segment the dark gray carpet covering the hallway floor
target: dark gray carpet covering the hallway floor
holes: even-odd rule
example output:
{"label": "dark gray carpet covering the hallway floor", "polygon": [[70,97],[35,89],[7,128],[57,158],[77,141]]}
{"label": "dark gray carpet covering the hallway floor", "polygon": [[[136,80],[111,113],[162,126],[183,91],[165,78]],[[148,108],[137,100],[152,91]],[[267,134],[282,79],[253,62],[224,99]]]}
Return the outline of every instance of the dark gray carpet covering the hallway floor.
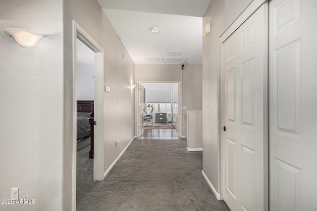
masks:
{"label": "dark gray carpet covering the hallway floor", "polygon": [[185,139],[135,139],[100,182],[88,152],[77,153],[77,211],[229,211],[201,174],[202,152],[188,152]]}

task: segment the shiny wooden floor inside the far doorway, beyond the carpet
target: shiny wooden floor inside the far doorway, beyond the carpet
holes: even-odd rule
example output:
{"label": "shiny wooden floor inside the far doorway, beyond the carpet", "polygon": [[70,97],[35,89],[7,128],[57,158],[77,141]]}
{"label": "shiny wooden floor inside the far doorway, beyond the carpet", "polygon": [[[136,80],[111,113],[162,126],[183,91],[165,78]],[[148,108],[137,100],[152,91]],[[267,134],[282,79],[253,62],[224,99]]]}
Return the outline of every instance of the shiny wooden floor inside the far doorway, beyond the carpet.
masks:
{"label": "shiny wooden floor inside the far doorway, beyond the carpet", "polygon": [[145,129],[139,139],[172,139],[178,140],[176,129]]}

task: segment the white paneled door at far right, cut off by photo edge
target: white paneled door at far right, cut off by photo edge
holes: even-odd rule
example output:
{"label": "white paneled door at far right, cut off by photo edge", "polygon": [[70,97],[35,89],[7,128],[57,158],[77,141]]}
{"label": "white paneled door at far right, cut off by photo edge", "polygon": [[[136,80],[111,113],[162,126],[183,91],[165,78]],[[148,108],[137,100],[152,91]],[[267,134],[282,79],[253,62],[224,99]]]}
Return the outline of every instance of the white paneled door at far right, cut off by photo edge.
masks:
{"label": "white paneled door at far right, cut off by photo edge", "polygon": [[317,210],[317,1],[269,2],[271,211]]}

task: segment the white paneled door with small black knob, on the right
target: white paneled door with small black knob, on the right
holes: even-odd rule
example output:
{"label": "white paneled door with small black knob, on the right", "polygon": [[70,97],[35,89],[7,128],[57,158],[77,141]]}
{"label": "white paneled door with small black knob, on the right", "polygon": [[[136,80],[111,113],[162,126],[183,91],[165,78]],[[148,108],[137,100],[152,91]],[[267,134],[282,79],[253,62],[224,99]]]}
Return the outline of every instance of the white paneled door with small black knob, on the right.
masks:
{"label": "white paneled door with small black knob, on the right", "polygon": [[267,210],[267,3],[221,44],[222,183],[231,211]]}

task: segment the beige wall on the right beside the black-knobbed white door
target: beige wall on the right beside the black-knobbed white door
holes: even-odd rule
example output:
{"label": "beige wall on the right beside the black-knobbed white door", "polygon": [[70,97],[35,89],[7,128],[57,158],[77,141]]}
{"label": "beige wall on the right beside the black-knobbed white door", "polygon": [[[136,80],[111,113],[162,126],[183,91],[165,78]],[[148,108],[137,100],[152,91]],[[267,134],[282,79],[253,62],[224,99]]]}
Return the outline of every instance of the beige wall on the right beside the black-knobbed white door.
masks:
{"label": "beige wall on the right beside the black-knobbed white door", "polygon": [[218,148],[221,114],[218,84],[218,37],[253,0],[211,0],[203,17],[203,26],[211,23],[211,32],[203,38],[203,170],[219,191]]}

